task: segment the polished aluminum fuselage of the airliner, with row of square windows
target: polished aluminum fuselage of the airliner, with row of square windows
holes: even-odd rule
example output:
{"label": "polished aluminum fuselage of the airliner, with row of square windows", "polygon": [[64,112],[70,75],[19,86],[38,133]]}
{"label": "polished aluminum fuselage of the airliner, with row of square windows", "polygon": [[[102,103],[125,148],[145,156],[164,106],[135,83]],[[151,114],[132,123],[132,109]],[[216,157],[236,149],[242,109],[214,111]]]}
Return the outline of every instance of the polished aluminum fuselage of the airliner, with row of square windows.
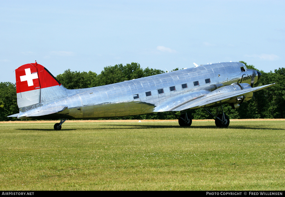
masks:
{"label": "polished aluminum fuselage of the airliner, with row of square windows", "polygon": [[[66,107],[61,112],[40,118],[98,119],[175,111],[175,109],[168,108],[168,103],[175,102],[175,98],[179,95],[183,94],[191,99],[204,96],[232,83],[250,84],[252,77],[249,76],[256,75],[257,71],[246,69],[246,67],[245,71],[242,71],[241,67],[245,65],[238,62],[215,63],[99,87],[73,90],[66,89],[62,85],[48,87],[41,90],[41,94],[45,95],[42,96],[41,103],[20,108],[20,114]],[[257,77],[254,80],[256,83]],[[182,88],[185,87],[182,84],[187,84],[187,87]],[[170,87],[173,86],[175,90],[172,88],[170,91]],[[163,93],[158,91],[160,89],[163,89]],[[57,99],[48,99],[48,95],[54,98],[54,94],[57,94]],[[156,110],[156,107],[160,105],[165,107]],[[23,116],[23,118],[28,117]]]}

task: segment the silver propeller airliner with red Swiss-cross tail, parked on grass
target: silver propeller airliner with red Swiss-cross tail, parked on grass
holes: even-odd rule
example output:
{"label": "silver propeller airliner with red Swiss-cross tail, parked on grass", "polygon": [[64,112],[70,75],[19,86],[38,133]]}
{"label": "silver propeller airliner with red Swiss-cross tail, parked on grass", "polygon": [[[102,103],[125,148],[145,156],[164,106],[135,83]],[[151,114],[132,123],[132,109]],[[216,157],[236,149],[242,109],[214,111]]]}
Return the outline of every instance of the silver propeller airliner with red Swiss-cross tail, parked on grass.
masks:
{"label": "silver propeller airliner with red Swiss-cross tail, parked on grass", "polygon": [[[85,89],[66,89],[42,65],[29,63],[16,69],[18,119],[98,119],[153,112],[185,111],[230,104],[234,109],[253,92],[273,84],[253,87],[261,73],[240,62],[211,63],[159,75]],[[209,112],[209,111],[208,111]],[[210,112],[209,112],[210,113]],[[211,114],[211,113],[210,113]],[[176,116],[176,114],[174,114]],[[222,112],[211,114],[217,127],[229,126]],[[192,119],[184,112],[180,126]]]}

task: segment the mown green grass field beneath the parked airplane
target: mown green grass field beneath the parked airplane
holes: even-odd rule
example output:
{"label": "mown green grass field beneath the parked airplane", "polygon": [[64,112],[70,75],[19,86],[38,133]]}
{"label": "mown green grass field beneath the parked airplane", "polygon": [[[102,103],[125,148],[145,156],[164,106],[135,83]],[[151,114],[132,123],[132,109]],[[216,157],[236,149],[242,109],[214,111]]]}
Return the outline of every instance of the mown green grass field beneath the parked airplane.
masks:
{"label": "mown green grass field beneath the parked airplane", "polygon": [[0,190],[284,190],[285,121],[0,124]]}

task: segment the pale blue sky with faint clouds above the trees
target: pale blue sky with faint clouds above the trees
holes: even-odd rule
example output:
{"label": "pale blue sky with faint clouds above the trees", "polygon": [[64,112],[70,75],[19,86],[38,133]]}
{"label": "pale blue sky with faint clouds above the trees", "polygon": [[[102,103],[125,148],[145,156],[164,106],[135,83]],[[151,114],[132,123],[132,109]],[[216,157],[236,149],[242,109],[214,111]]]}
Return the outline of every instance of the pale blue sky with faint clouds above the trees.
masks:
{"label": "pale blue sky with faint clouds above the trees", "polygon": [[285,1],[0,1],[0,81],[137,62],[168,71],[245,61],[284,67]]}

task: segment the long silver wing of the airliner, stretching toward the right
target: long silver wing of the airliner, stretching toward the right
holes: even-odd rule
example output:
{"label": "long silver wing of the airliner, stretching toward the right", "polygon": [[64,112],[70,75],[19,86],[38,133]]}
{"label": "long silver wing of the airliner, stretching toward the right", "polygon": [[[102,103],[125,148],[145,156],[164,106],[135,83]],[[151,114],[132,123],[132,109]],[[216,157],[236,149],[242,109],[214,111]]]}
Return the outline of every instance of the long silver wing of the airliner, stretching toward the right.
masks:
{"label": "long silver wing of the airliner, stretching toward the right", "polygon": [[[182,111],[187,109],[196,109],[196,108],[203,108],[203,107],[209,107],[214,106],[216,104],[223,104],[224,102],[227,102],[231,99],[237,98],[239,96],[249,94],[267,87],[270,87],[272,85],[275,85],[275,83],[269,84],[269,85],[262,85],[259,87],[252,87],[248,89],[242,89],[238,91],[232,91],[223,93],[217,92],[217,94],[207,96],[205,92],[201,93],[198,97],[189,97],[188,99],[184,99],[182,102],[176,101],[176,102],[166,102],[162,105],[158,105],[154,108],[155,112],[162,112],[162,110],[165,111]],[[209,93],[209,92],[208,92]],[[187,94],[187,93],[186,93]],[[184,94],[182,94],[184,95]],[[179,99],[179,98],[177,98]],[[167,108],[165,107],[167,106]]]}

